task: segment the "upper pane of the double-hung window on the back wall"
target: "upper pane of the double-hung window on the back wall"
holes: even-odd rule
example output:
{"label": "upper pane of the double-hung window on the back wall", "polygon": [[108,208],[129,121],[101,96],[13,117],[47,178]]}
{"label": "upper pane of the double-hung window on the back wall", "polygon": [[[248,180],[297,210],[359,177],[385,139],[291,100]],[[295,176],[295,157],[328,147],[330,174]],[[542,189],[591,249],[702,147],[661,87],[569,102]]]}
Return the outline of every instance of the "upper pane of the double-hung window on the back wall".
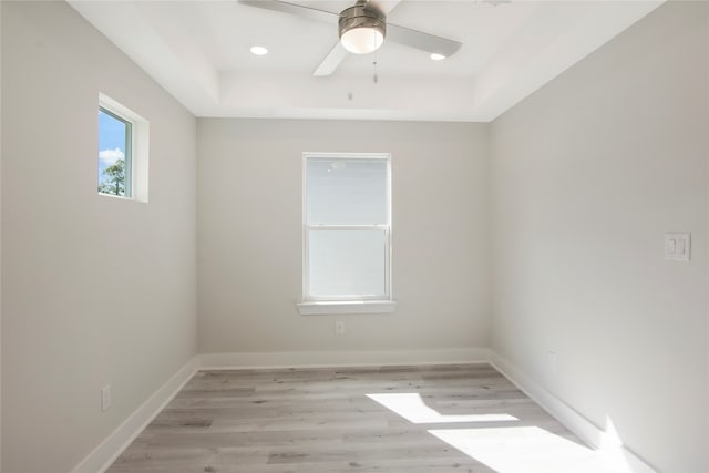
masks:
{"label": "upper pane of the double-hung window on the back wall", "polygon": [[387,160],[309,157],[306,168],[307,223],[389,223],[387,168]]}

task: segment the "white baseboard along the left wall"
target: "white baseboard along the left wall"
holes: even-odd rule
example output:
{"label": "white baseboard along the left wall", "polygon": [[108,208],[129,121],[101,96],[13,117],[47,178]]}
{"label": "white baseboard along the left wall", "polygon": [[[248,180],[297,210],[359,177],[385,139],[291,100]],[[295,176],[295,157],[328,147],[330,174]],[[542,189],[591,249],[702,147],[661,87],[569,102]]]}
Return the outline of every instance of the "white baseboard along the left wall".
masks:
{"label": "white baseboard along the left wall", "polygon": [[194,357],[96,446],[72,473],[103,473],[199,369]]}

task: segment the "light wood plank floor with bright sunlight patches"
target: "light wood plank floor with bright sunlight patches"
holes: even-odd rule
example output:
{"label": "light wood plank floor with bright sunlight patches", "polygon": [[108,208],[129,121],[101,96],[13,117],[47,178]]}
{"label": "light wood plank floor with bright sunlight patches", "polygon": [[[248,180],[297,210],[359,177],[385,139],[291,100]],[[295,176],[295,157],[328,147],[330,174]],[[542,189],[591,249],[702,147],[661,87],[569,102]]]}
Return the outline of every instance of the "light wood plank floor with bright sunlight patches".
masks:
{"label": "light wood plank floor with bright sunlight patches", "polygon": [[201,371],[109,472],[502,472],[512,432],[590,452],[489,364]]}

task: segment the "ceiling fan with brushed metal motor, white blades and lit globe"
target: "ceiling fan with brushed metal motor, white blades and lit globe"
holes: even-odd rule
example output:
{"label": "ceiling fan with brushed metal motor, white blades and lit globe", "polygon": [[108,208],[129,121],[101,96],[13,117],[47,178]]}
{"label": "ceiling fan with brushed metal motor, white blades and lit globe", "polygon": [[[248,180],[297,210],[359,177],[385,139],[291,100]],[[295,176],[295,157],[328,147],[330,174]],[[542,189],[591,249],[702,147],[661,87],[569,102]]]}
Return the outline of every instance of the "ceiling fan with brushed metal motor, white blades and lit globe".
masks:
{"label": "ceiling fan with brushed metal motor, white blades and lit globe", "polygon": [[381,4],[370,0],[357,0],[352,7],[340,13],[289,3],[281,0],[238,0],[239,3],[295,14],[301,18],[338,22],[340,41],[335,44],[312,75],[325,76],[335,72],[348,53],[366,54],[377,50],[387,41],[404,44],[432,54],[432,58],[444,59],[454,54],[461,43],[423,31],[412,30],[398,24],[388,23],[387,14],[401,0],[391,0]]}

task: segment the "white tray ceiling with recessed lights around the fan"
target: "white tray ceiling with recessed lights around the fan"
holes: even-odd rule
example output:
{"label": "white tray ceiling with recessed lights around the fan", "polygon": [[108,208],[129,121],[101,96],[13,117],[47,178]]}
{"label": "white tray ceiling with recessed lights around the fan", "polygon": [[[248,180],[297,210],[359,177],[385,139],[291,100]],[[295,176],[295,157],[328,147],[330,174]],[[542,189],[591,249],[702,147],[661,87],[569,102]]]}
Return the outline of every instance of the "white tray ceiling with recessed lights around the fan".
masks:
{"label": "white tray ceiling with recessed lights around the fan", "polygon": [[[337,21],[237,0],[68,1],[197,116],[487,122],[664,0],[380,1],[395,4],[388,22],[463,45],[432,61],[386,41],[325,78],[312,72]],[[290,2],[337,13],[354,0]],[[269,53],[253,55],[255,44]]]}

